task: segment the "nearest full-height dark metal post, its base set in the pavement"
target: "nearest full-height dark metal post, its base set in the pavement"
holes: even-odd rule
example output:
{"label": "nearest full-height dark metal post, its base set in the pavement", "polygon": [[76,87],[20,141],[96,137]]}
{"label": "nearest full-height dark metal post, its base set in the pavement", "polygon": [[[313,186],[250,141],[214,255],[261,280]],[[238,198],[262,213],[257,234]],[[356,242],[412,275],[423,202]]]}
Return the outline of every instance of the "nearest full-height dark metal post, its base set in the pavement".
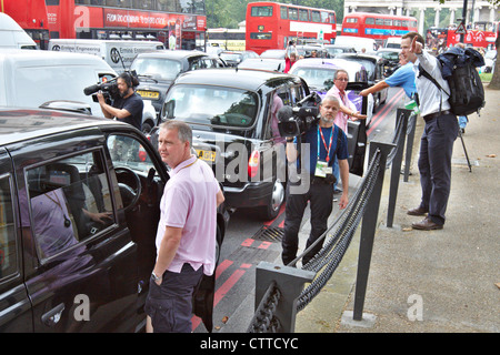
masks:
{"label": "nearest full-height dark metal post, its base set in the pavement", "polygon": [[361,226],[361,241],[358,256],[358,275],[356,280],[354,312],[353,320],[361,321],[364,305],[364,295],[367,293],[368,274],[370,272],[371,251],[373,248],[374,231],[379,215],[380,196],[382,193],[383,175],[386,173],[387,155],[394,148],[391,143],[370,142],[370,160],[374,153],[380,150],[380,169],[377,182],[363,214]]}

